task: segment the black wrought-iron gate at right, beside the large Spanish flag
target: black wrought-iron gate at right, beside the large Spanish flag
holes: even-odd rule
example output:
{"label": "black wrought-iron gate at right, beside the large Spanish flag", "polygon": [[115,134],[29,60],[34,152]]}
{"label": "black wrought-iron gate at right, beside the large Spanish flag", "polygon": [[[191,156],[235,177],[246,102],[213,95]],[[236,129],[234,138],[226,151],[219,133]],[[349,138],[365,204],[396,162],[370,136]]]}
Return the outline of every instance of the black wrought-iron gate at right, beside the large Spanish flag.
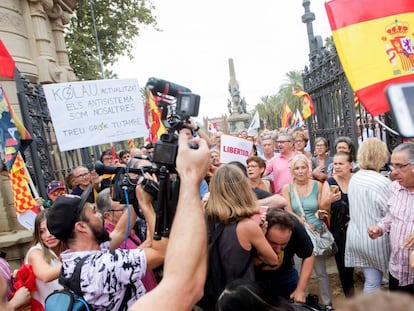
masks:
{"label": "black wrought-iron gate at right, beside the large Spanish flag", "polygon": [[386,131],[386,125],[395,129],[390,113],[372,118],[354,96],[354,92],[342,69],[335,46],[319,48],[310,55],[310,64],[303,72],[303,85],[314,102],[315,114],[308,119],[310,143],[316,137],[324,137],[330,143],[338,136],[348,136],[357,148],[368,137],[386,142],[391,151],[401,143],[401,137]]}

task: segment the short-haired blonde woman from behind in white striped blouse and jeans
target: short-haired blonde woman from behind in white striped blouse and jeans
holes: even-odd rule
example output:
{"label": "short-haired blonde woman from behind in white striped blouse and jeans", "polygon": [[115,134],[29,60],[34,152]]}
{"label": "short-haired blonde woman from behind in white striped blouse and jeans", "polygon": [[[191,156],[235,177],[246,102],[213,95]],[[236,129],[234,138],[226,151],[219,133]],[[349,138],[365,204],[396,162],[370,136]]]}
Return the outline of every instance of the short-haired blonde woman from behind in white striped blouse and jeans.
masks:
{"label": "short-haired blonde woman from behind in white striped blouse and jeans", "polygon": [[388,158],[384,142],[377,138],[364,140],[357,155],[360,170],[349,182],[350,221],[345,244],[345,266],[362,268],[364,292],[380,289],[383,273],[388,271],[391,251],[388,235],[372,240],[367,233],[368,227],[378,223],[388,211],[391,181],[379,172]]}

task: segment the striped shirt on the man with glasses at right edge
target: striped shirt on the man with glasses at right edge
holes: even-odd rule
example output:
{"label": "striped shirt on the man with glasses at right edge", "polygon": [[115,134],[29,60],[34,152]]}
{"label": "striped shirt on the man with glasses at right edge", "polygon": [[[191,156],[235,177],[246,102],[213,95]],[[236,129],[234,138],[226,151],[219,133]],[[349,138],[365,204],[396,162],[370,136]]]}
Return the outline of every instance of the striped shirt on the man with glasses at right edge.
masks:
{"label": "striped shirt on the man with glasses at right edge", "polygon": [[399,281],[399,286],[414,284],[414,272],[409,265],[413,248],[403,248],[405,239],[414,233],[414,192],[394,181],[390,186],[388,205],[389,212],[378,225],[390,234],[390,273]]}

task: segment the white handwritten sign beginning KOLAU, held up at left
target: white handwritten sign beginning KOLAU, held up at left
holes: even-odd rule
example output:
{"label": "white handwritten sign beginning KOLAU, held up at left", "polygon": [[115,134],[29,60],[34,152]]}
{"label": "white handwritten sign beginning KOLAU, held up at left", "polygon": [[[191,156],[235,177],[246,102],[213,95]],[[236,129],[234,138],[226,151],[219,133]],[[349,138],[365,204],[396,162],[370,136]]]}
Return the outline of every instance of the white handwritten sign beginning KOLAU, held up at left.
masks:
{"label": "white handwritten sign beginning KOLAU, held up at left", "polygon": [[61,151],[144,137],[144,107],[135,79],[44,85]]}

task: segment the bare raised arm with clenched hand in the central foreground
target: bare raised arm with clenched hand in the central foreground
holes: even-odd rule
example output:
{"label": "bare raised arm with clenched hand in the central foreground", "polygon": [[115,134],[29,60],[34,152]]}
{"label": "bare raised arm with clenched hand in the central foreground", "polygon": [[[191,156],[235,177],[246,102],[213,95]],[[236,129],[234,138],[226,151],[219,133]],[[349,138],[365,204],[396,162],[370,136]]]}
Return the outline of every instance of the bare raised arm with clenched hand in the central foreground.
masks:
{"label": "bare raised arm with clenched hand in the central foreground", "polygon": [[134,303],[131,311],[191,310],[203,294],[207,231],[198,191],[210,165],[210,153],[204,140],[191,141],[198,144],[198,149],[189,148],[187,136],[180,134],[176,167],[181,187],[165,257],[164,277],[154,290]]}

